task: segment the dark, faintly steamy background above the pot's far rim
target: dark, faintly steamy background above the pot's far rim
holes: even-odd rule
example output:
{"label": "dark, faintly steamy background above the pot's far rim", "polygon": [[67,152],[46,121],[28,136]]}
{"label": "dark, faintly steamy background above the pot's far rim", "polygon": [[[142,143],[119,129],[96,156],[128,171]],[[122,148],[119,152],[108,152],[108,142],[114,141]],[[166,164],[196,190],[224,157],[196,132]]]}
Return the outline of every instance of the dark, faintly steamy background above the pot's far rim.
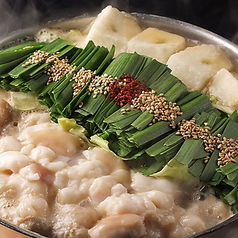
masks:
{"label": "dark, faintly steamy background above the pot's far rim", "polygon": [[55,18],[99,12],[108,4],[183,20],[238,44],[238,0],[0,0],[0,37]]}

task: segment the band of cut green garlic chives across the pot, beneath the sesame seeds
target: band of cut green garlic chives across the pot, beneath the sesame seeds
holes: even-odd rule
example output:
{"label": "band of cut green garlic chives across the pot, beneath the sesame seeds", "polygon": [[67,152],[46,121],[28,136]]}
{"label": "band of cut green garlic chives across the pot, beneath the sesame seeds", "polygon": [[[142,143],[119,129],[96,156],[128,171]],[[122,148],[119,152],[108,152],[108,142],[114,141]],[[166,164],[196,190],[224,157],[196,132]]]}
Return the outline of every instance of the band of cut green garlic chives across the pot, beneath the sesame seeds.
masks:
{"label": "band of cut green garlic chives across the pot, beneath the sesame seeds", "polygon": [[[36,50],[67,58],[71,65],[76,66],[75,72],[84,67],[95,71],[96,75],[107,74],[115,78],[125,73],[133,75],[156,94],[163,93],[168,101],[176,102],[182,115],[175,123],[196,118],[200,126],[209,123],[212,135],[221,134],[238,140],[237,112],[228,116],[214,108],[206,95],[199,91],[189,92],[171,74],[167,65],[155,59],[137,53],[122,53],[114,58],[114,47],[108,50],[95,46],[92,41],[83,49],[58,38],[51,43],[25,42],[0,51],[0,86],[5,90],[37,94],[39,102],[49,108],[54,121],[73,119],[74,128],[75,125],[85,128],[88,138],[106,146],[136,171],[157,177],[165,168],[168,169],[168,165],[185,166],[188,173],[212,186],[226,203],[237,206],[238,163],[218,166],[217,148],[211,153],[206,152],[201,139],[185,139],[177,135],[178,127],[172,128],[168,121],[151,125],[153,114],[149,111],[142,112],[129,104],[121,108],[110,100],[109,95],[94,97],[94,93],[88,91],[90,82],[74,96],[73,74],[47,84],[47,63],[23,66]],[[83,106],[79,107],[82,103]],[[122,109],[128,108],[127,113],[121,113]],[[205,163],[207,156],[210,159]]]}

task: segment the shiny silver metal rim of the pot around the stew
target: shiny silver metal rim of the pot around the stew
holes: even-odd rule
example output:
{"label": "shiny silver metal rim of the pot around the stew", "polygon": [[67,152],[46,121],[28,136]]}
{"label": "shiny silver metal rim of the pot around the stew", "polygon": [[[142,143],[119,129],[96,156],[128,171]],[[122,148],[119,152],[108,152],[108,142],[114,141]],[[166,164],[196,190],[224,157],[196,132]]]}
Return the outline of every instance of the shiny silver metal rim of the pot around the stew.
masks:
{"label": "shiny silver metal rim of the pot around the stew", "polygon": [[[173,18],[169,18],[165,16],[146,14],[146,13],[133,12],[131,14],[134,17],[138,18],[139,23],[142,23],[142,25],[146,27],[155,26],[161,30],[182,35],[186,39],[190,39],[195,42],[197,41],[197,42],[202,42],[204,44],[213,44],[223,48],[228,53],[228,55],[233,59],[234,61],[233,63],[238,69],[238,45],[231,42],[230,40],[216,33],[213,33],[209,30],[206,30],[202,27],[193,25],[191,23],[187,23],[185,21],[181,21],[181,20],[177,20],[177,19],[173,19]],[[93,14],[93,15],[96,15],[96,14]],[[81,18],[81,17],[92,17],[92,15],[86,14],[76,18]],[[73,19],[76,19],[76,18],[73,18]],[[70,20],[67,19],[67,21],[70,21]],[[38,25],[37,27],[16,30],[10,33],[8,36],[0,38],[0,48],[9,46],[9,44],[14,44],[14,42],[16,43],[18,39],[31,40],[33,38],[34,32],[36,32],[38,29],[41,29],[44,26],[55,25],[56,23],[60,24],[61,22],[63,22],[62,19],[59,19],[59,22],[57,22],[56,20],[54,22],[51,21],[48,24],[44,24],[43,26]],[[195,235],[189,236],[188,238],[202,237],[204,235],[207,235],[219,229],[222,229],[223,227],[228,226],[237,221],[238,221],[238,213],[234,214],[232,217],[219,223],[218,225],[213,226],[202,232],[199,232]],[[11,224],[10,222],[5,221],[2,218],[0,218],[0,225],[8,227],[15,232],[21,233],[23,235],[27,235],[32,238],[47,238],[45,236],[34,233],[32,231],[22,229],[14,224]]]}

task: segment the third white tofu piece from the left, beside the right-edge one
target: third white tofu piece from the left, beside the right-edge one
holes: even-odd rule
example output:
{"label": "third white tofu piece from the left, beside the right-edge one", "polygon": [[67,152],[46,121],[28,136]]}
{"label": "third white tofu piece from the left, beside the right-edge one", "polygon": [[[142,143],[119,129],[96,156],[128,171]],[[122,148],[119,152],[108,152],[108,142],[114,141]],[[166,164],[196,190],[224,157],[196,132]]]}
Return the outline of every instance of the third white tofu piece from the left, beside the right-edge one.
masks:
{"label": "third white tofu piece from the left, beside the right-edge one", "polygon": [[232,68],[232,63],[225,52],[212,45],[187,47],[173,54],[167,64],[172,69],[172,74],[191,91],[202,91],[217,71]]}

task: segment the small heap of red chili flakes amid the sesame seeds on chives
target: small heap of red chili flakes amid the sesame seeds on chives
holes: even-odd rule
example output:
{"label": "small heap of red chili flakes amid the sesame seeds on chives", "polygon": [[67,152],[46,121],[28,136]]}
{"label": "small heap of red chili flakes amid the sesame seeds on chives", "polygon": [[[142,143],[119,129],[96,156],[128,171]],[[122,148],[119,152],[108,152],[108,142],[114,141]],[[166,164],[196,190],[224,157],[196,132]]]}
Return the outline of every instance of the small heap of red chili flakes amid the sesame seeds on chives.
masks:
{"label": "small heap of red chili flakes amid the sesame seeds on chives", "polygon": [[110,84],[110,100],[115,100],[120,107],[132,104],[132,99],[138,98],[142,91],[150,90],[149,87],[134,79],[134,76],[124,74],[116,84]]}

